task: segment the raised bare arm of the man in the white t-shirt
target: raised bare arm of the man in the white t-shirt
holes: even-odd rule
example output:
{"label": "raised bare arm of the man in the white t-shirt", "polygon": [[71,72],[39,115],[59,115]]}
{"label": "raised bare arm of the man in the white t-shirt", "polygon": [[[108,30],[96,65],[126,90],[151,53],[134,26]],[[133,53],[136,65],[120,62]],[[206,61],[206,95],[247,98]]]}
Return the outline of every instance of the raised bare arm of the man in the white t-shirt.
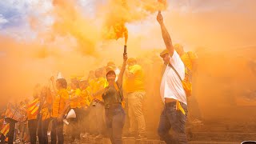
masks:
{"label": "raised bare arm of the man in the white t-shirt", "polygon": [[174,54],[174,46],[173,46],[173,44],[171,42],[170,34],[168,33],[168,31],[166,29],[166,26],[163,23],[163,18],[162,18],[162,14],[161,13],[158,13],[157,20],[158,20],[158,23],[161,26],[162,38],[163,38],[163,41],[166,44],[166,49],[169,51],[170,56],[173,56],[173,54]]}

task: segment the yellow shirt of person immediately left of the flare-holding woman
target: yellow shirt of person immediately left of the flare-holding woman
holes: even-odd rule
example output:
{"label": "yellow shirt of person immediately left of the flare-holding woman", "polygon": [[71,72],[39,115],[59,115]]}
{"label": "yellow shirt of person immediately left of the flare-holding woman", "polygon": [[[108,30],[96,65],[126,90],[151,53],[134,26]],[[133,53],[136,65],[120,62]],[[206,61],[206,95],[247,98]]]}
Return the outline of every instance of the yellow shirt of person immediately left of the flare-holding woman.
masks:
{"label": "yellow shirt of person immediately left of the flare-holding woman", "polygon": [[[104,86],[106,85],[106,78],[98,78],[95,82],[94,82],[94,86],[93,86],[93,93],[98,92],[98,90],[103,90]],[[94,96],[94,98],[103,101],[102,99],[102,94],[98,94],[96,96]]]}

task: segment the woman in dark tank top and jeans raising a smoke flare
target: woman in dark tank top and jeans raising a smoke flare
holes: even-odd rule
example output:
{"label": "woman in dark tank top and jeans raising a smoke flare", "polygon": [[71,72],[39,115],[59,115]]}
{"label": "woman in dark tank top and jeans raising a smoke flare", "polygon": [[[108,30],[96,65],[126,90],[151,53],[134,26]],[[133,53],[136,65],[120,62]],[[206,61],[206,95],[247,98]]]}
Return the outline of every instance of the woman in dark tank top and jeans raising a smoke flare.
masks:
{"label": "woman in dark tank top and jeans raising a smoke flare", "polygon": [[112,144],[122,144],[122,128],[126,120],[125,111],[122,109],[122,77],[126,70],[126,60],[127,54],[124,54],[122,69],[117,82],[115,82],[114,70],[109,70],[106,73],[109,85],[106,86],[102,94],[105,105],[106,129]]}

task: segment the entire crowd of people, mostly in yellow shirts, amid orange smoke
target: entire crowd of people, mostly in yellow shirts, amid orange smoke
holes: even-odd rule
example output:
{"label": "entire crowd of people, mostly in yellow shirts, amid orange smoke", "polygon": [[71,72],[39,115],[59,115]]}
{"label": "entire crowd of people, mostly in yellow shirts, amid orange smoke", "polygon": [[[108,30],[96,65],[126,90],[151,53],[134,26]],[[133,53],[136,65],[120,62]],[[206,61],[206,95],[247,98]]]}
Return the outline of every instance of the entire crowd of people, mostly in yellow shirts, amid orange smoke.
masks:
{"label": "entire crowd of people, mostly in yellow shirts, amid orange smoke", "polygon": [[[181,45],[172,44],[161,13],[157,20],[166,44],[159,57],[164,62],[162,74],[158,76],[162,78],[160,89],[151,87],[160,90],[164,103],[158,135],[167,144],[187,143],[188,93],[184,82],[192,81],[197,57],[185,52]],[[122,143],[122,137],[146,139],[142,107],[149,91],[146,87],[149,76],[140,58],[128,58],[126,53],[122,57],[122,66],[108,62],[104,67],[90,70],[87,77],[70,78],[70,83],[58,73],[56,78],[49,78],[48,86],[34,86],[31,102],[26,99],[19,104],[9,103],[1,115],[1,142],[21,139],[45,144],[48,135],[49,142],[59,144],[64,143],[64,138],[67,138],[65,142],[79,143],[80,138],[89,136],[107,137],[113,144]],[[122,134],[126,122],[129,130]]]}

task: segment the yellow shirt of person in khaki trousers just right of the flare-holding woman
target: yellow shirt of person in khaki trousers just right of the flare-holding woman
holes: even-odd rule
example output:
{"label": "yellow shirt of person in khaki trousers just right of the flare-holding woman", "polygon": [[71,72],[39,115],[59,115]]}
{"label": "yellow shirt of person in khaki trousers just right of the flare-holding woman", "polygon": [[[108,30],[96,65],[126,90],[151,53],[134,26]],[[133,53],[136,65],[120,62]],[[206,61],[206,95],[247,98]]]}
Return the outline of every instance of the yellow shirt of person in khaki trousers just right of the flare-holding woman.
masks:
{"label": "yellow shirt of person in khaki trousers just right of the flare-holding woman", "polygon": [[145,90],[145,78],[142,70],[142,66],[134,65],[128,67],[129,73],[134,74],[132,78],[126,78],[126,91],[131,93],[134,91],[144,91]]}

